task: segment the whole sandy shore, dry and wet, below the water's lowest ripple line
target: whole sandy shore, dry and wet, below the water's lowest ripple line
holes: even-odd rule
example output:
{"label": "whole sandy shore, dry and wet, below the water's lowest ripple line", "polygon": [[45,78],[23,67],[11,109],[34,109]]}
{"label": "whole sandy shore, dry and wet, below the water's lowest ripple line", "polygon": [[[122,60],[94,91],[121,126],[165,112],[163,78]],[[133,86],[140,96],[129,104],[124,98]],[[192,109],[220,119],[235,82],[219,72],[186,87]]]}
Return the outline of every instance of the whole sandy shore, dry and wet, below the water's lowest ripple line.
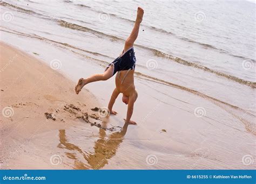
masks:
{"label": "whole sandy shore, dry and wet, below the water's lowest ripple line", "polygon": [[[107,102],[87,88],[76,95],[75,82],[4,43],[0,67],[1,110],[10,107],[0,119],[1,169],[255,168],[248,112],[160,83],[149,94],[139,78],[138,125],[127,125],[119,98],[119,114],[104,118],[94,108]],[[106,93],[111,80],[95,87]]]}

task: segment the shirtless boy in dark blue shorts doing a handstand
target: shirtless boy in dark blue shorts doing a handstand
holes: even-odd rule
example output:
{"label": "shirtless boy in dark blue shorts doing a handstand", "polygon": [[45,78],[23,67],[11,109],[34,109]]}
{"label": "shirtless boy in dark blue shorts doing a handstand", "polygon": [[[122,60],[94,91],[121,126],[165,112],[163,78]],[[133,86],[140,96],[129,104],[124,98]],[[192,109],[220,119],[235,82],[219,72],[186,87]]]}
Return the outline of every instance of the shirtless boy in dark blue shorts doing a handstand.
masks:
{"label": "shirtless boy in dark blue shorts doing a handstand", "polygon": [[79,79],[78,84],[75,88],[76,94],[78,94],[86,84],[96,81],[105,81],[107,79],[110,79],[110,77],[118,72],[116,75],[116,88],[113,90],[108,108],[110,114],[116,115],[117,112],[113,111],[112,107],[114,102],[116,101],[117,96],[120,93],[123,93],[122,100],[125,104],[128,104],[126,119],[124,119],[125,123],[130,123],[134,125],[136,125],[137,123],[131,121],[131,116],[133,112],[133,104],[137,100],[138,93],[135,90],[134,86],[133,74],[136,58],[133,50],[133,43],[138,37],[139,26],[140,23],[142,23],[143,14],[144,10],[138,7],[137,18],[130,36],[125,41],[122,55],[120,55],[117,59],[110,63],[103,74],[95,74],[86,79]]}

